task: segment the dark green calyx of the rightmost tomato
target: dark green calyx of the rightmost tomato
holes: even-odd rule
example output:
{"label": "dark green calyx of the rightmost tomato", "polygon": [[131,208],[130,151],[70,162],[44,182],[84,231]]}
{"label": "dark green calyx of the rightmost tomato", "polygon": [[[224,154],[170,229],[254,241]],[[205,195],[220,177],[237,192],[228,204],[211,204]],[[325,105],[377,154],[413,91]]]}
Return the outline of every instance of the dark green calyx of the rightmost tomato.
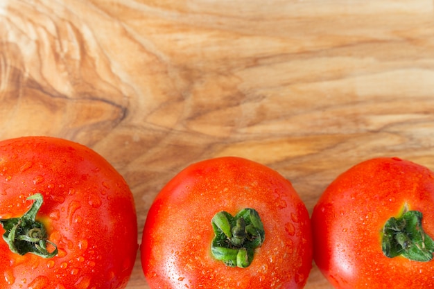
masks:
{"label": "dark green calyx of the rightmost tomato", "polygon": [[383,227],[383,254],[389,258],[428,262],[433,259],[434,241],[422,229],[422,213],[404,207],[398,218],[390,218]]}

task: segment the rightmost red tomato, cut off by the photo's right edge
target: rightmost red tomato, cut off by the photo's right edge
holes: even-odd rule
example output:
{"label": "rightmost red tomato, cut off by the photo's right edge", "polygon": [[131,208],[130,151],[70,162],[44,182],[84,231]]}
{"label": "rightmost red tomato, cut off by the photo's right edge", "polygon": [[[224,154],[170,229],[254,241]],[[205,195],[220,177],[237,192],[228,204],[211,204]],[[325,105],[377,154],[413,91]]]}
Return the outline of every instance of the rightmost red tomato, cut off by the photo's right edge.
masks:
{"label": "rightmost red tomato, cut off by the photo's right edge", "polygon": [[399,158],[338,176],[312,214],[314,260],[343,288],[434,288],[434,174]]}

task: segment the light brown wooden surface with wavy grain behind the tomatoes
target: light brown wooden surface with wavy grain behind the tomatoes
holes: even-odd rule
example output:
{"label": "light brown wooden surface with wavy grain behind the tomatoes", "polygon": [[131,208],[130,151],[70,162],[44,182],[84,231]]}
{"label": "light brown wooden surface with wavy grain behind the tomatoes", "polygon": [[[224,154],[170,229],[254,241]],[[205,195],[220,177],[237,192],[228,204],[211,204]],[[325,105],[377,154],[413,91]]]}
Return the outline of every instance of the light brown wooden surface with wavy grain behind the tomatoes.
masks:
{"label": "light brown wooden surface with wavy grain behind the tomatoes", "polygon": [[[223,155],[278,170],[311,211],[358,161],[434,169],[433,24],[431,0],[1,0],[0,139],[94,148],[139,237],[171,177]],[[331,286],[314,266],[306,288]]]}

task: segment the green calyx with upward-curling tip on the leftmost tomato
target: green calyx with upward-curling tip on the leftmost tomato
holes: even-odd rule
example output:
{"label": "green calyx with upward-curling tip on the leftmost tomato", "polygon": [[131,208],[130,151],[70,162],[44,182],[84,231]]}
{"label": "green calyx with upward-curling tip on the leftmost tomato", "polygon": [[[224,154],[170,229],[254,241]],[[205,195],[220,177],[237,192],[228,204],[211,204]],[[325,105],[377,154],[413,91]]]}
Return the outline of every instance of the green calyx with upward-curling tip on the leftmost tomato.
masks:
{"label": "green calyx with upward-curling tip on the leftmost tomato", "polygon": [[[0,224],[5,230],[3,239],[8,243],[10,251],[16,254],[32,253],[43,258],[52,258],[58,254],[58,247],[47,239],[44,224],[35,220],[44,198],[40,193],[36,193],[27,200],[34,200],[34,202],[23,216],[0,219]],[[55,248],[53,252],[48,251],[47,243]]]}

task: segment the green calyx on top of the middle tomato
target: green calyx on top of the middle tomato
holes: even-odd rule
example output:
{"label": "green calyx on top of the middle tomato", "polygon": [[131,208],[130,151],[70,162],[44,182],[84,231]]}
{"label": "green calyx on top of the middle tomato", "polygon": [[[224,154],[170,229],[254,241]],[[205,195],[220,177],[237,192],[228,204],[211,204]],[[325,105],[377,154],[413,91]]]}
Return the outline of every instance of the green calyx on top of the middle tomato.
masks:
{"label": "green calyx on top of the middle tomato", "polygon": [[259,213],[250,208],[232,216],[220,211],[211,220],[214,239],[211,253],[229,267],[246,268],[252,263],[254,249],[261,247],[265,231]]}

